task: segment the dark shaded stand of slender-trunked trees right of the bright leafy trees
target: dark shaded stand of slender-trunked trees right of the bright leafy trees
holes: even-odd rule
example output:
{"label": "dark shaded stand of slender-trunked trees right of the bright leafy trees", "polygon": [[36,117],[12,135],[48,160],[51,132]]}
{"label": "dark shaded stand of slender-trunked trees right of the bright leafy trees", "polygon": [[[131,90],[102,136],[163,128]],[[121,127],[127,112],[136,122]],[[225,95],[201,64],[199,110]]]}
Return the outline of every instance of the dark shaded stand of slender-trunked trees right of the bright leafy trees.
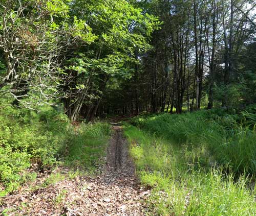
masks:
{"label": "dark shaded stand of slender-trunked trees right of the bright leafy trees", "polygon": [[123,103],[108,104],[116,97],[106,96],[103,106],[110,106],[108,111],[181,113],[255,103],[253,1],[162,0],[139,4],[163,23],[152,34],[153,49],[140,54],[139,69],[119,89]]}

